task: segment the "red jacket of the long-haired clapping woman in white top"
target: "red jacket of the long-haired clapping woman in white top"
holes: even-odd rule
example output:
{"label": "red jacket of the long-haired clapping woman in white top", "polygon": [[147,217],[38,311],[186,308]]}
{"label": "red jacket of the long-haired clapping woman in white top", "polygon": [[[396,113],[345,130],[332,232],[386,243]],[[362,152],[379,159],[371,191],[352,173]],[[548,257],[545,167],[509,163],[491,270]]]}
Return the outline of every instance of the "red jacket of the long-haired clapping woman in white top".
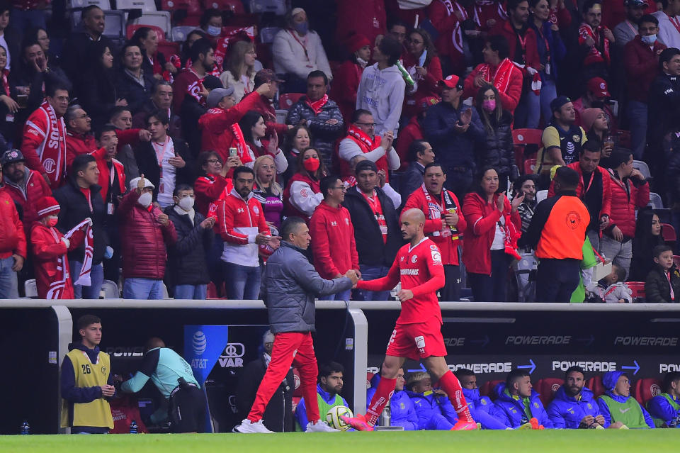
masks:
{"label": "red jacket of the long-haired clapping woman in white top", "polygon": [[[479,194],[471,192],[463,200],[463,216],[467,220],[465,240],[463,240],[463,263],[467,272],[491,275],[491,245],[496,235],[496,223],[501,215],[510,216],[510,220],[521,229],[522,220],[519,212],[511,213],[512,206],[505,199],[503,213],[496,208],[498,195],[494,201],[487,203]],[[499,276],[505,278],[505,276]]]}

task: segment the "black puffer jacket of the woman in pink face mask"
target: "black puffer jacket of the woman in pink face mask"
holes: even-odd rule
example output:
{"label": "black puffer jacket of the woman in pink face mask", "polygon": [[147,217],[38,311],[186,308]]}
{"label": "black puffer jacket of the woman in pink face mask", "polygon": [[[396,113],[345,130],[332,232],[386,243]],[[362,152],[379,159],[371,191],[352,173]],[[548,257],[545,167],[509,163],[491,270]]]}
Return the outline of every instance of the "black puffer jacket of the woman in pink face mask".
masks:
{"label": "black puffer jacket of the woman in pink face mask", "polygon": [[[484,123],[482,113],[482,123]],[[511,166],[515,163],[512,149],[512,115],[503,111],[501,120],[496,123],[496,118],[490,118],[494,132],[489,132],[485,125],[486,141],[477,145],[478,168],[492,165],[500,172],[499,176],[509,176]]]}

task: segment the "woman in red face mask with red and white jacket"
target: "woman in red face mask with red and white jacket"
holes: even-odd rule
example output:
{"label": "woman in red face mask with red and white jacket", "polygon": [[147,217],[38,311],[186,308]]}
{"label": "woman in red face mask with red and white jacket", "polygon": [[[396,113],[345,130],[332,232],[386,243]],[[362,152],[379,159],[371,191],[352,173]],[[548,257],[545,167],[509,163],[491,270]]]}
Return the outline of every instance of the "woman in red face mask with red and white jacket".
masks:
{"label": "woman in red face mask with red and white jacket", "polygon": [[288,181],[283,192],[286,216],[298,216],[309,221],[314,209],[324,199],[319,181],[327,176],[324,161],[319,152],[307,148],[297,155],[297,172]]}

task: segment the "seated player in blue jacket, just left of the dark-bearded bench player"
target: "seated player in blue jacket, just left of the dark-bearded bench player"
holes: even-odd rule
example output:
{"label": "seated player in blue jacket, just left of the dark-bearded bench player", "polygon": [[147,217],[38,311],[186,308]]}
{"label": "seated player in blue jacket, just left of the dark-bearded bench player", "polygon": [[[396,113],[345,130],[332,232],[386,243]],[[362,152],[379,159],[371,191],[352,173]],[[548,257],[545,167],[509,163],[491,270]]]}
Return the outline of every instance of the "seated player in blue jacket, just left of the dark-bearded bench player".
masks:
{"label": "seated player in blue jacket, just left of the dark-bearded bench player", "polygon": [[524,369],[510,371],[505,384],[499,384],[498,399],[490,414],[507,427],[518,428],[536,418],[540,425],[553,427],[538,392],[531,387],[531,376]]}

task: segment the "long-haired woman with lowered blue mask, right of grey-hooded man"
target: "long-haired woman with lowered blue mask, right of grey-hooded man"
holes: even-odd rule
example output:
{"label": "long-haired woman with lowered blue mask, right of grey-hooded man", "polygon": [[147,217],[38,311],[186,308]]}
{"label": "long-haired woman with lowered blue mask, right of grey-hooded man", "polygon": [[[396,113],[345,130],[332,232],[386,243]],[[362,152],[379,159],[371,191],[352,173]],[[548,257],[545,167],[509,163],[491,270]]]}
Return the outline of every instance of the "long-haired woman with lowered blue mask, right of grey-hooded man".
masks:
{"label": "long-haired woman with lowered blue mask, right of grey-hooded man", "polygon": [[404,67],[416,83],[410,88],[407,86],[402,116],[415,116],[420,110],[421,99],[439,96],[437,83],[444,77],[429,33],[421,28],[413,30],[407,39],[407,49]]}

